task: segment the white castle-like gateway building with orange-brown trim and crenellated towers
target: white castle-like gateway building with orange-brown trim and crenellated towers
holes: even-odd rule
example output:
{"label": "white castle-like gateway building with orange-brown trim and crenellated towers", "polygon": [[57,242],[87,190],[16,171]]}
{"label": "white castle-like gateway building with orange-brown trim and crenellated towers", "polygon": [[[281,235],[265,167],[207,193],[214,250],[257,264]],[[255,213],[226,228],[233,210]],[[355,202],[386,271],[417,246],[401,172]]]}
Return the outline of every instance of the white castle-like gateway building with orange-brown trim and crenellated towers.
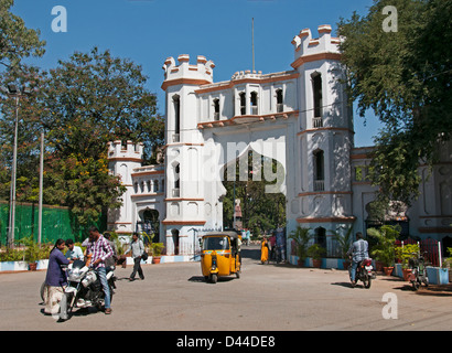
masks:
{"label": "white castle-like gateway building with orange-brown trim and crenellated towers", "polygon": [[[321,25],[318,38],[309,29],[295,35],[288,71],[236,72],[227,82],[214,83],[215,65],[204,56],[195,63],[189,55],[166,58],[164,163],[141,165],[141,145],[109,145],[110,169],[127,186],[109,228],[130,234],[153,217],[166,255],[192,256],[198,236],[223,229],[226,167],[234,178],[236,159],[252,151],[283,169],[272,173],[263,165],[263,178],[277,179],[267,192],[286,195],[288,234],[310,227],[334,255],[331,231],[353,224],[354,233],[365,233],[377,190],[365,179],[372,148],[354,148],[341,40],[331,32]],[[421,196],[406,214],[411,236],[451,233],[451,145],[444,146],[430,178],[427,167],[419,169]]]}

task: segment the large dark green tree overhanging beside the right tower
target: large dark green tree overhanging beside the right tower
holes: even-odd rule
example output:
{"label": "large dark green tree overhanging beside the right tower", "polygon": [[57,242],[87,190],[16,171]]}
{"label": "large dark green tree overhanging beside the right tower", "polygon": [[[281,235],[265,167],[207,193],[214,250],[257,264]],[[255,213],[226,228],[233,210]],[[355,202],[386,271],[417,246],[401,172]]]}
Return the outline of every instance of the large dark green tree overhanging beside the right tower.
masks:
{"label": "large dark green tree overhanging beside the right tower", "polygon": [[[383,28],[386,6],[397,9],[397,32]],[[419,163],[431,167],[451,138],[451,0],[375,0],[367,15],[338,23],[348,96],[385,126],[369,173],[386,201],[410,204]]]}

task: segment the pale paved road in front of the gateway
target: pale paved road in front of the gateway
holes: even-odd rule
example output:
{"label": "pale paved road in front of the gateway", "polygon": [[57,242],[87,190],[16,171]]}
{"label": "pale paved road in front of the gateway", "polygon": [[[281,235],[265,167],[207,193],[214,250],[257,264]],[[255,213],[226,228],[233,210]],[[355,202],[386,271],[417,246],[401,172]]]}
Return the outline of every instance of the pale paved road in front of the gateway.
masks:
{"label": "pale paved road in front of the gateway", "polygon": [[[378,276],[370,289],[352,288],[343,270],[261,265],[245,247],[241,278],[206,284],[198,263],[143,266],[129,282],[117,270],[111,315],[76,311],[56,322],[42,313],[45,271],[0,275],[0,330],[451,330],[452,293],[417,293],[398,278]],[[390,300],[384,298],[389,293]],[[395,301],[397,300],[397,303]],[[388,304],[395,304],[389,311]],[[396,306],[397,304],[397,306]],[[384,313],[397,314],[385,319]]]}

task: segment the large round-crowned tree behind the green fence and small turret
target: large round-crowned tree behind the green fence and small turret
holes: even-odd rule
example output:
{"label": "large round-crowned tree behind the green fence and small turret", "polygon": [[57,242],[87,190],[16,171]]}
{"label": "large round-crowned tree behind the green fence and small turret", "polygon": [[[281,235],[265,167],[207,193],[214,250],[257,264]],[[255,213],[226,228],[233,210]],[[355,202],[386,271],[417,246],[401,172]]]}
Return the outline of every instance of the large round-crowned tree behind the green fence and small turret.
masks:
{"label": "large round-crowned tree behind the green fence and small turret", "polygon": [[[20,106],[18,200],[36,199],[39,135],[44,131],[44,203],[69,206],[74,225],[87,225],[118,206],[125,191],[108,171],[107,142],[143,141],[148,158],[162,143],[164,121],[157,114],[155,96],[146,88],[139,65],[96,47],[60,61],[50,72],[28,72],[21,79],[36,89]],[[2,110],[1,140],[12,141],[11,101],[4,100]],[[6,145],[0,156],[8,167],[11,149]]]}

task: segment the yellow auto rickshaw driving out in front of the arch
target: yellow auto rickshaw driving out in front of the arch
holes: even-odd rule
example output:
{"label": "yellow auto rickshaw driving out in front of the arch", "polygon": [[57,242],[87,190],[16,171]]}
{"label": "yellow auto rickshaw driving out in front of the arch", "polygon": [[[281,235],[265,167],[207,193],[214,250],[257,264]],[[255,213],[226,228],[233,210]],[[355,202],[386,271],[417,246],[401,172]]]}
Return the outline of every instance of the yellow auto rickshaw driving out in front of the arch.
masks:
{"label": "yellow auto rickshaw driving out in front of the arch", "polygon": [[235,232],[207,233],[202,239],[201,269],[206,281],[216,284],[218,277],[240,278],[240,236]]}

